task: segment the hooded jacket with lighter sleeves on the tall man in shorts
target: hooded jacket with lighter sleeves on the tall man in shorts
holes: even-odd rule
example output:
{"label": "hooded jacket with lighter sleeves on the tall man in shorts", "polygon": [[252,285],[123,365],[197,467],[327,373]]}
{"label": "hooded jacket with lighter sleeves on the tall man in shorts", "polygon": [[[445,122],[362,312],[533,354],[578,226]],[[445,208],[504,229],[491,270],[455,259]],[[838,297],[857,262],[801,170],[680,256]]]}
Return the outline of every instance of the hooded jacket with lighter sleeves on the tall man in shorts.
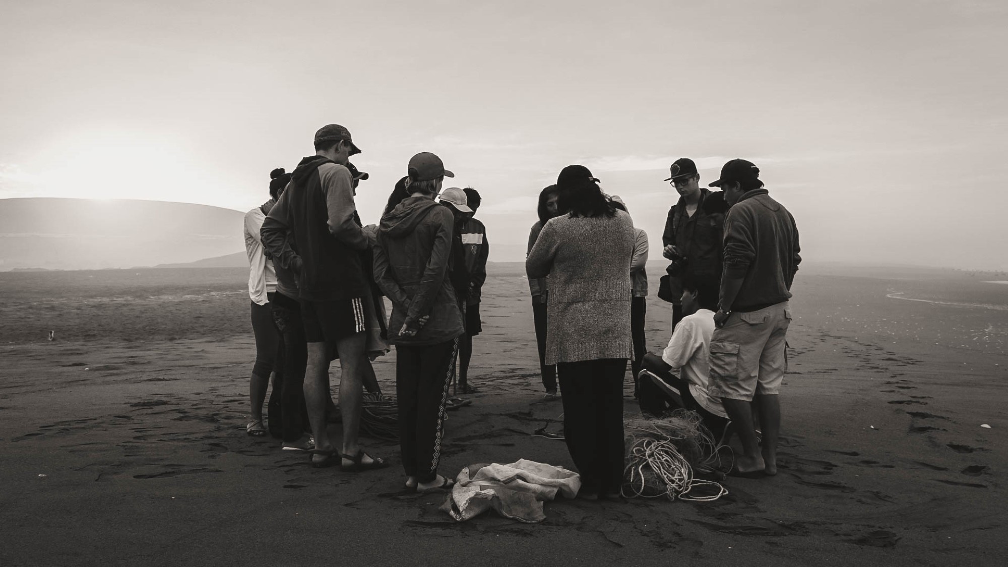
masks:
{"label": "hooded jacket with lighter sleeves on the tall man in shorts", "polygon": [[370,241],[355,213],[350,171],[321,155],[301,159],[260,235],[274,262],[296,273],[302,300],[364,297],[360,251]]}

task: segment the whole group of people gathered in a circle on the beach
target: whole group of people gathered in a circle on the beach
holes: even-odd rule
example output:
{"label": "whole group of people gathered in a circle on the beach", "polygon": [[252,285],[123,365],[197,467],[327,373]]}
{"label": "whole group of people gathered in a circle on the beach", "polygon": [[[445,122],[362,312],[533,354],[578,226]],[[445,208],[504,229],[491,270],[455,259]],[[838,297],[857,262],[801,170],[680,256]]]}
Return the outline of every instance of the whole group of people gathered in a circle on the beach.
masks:
{"label": "whole group of people gathered in a circle on the beach", "polygon": [[[291,174],[275,169],[271,199],[246,216],[257,348],[246,431],[267,434],[262,405],[272,372],[267,423],[284,449],[310,451],[314,466],[387,466],[359,446],[358,431],[364,389],[378,391],[371,361],[392,344],[405,486],[449,488],[437,466],[450,385],[458,360],[459,385],[474,390],[466,374],[481,331],[489,244],[473,218],[480,195],[443,189],[454,174],[433,153],[417,153],[379,223],[364,226],[354,196],[368,175],[349,160],[360,152],[349,130],[324,126],[314,149]],[[738,434],[744,453],[734,474],[776,472],[787,300],[800,261],[794,220],[744,159],[710,184],[719,193],[700,188],[688,158],[670,173],[665,181],[679,199],[662,236],[670,263],[658,296],[672,303],[673,331],[660,356],[644,349],[648,239],[626,204],[583,165],[564,167],[539,195],[526,271],[542,383],[546,400],[562,401],[585,497],[620,492],[628,360],[642,412],[696,411],[713,432]],[[383,297],[392,306],[387,322]],[[336,358],[339,448],[326,429]]]}

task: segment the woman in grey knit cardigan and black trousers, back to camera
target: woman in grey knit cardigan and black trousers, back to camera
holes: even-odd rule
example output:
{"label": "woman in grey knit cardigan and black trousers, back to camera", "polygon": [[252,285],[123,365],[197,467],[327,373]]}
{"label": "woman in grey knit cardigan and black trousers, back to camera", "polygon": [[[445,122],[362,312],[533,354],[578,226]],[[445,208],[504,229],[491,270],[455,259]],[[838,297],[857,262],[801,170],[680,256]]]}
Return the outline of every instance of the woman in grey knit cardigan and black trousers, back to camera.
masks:
{"label": "woman in grey knit cardigan and black trousers, back to camera", "polygon": [[549,275],[545,363],[556,364],[581,494],[614,496],[623,478],[623,376],[633,357],[633,224],[583,165],[564,167],[556,188],[566,214],[542,227],[525,269],[530,278]]}

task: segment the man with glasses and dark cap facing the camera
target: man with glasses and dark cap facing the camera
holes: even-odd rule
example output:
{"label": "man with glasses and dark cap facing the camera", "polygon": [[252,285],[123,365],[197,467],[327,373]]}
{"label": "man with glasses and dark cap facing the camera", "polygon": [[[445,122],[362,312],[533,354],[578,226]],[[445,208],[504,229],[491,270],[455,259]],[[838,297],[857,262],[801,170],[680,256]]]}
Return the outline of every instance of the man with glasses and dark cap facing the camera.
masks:
{"label": "man with glasses and dark cap facing the camera", "polygon": [[697,164],[679,157],[668,168],[669,182],[679,195],[668,210],[665,231],[661,235],[662,255],[671,260],[661,277],[658,297],[672,304],[672,330],[682,319],[682,282],[686,277],[721,280],[721,229],[724,225],[724,201],[720,193],[700,187]]}

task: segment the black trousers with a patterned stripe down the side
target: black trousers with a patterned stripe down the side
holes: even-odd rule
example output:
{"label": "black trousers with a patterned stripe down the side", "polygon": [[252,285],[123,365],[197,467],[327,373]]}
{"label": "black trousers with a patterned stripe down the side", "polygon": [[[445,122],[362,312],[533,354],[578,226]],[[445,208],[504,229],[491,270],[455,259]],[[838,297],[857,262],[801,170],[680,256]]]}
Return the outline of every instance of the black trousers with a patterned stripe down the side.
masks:
{"label": "black trousers with a patterned stripe down the side", "polygon": [[399,408],[399,453],[407,476],[430,482],[437,476],[452,360],[458,342],[396,345],[395,394]]}

